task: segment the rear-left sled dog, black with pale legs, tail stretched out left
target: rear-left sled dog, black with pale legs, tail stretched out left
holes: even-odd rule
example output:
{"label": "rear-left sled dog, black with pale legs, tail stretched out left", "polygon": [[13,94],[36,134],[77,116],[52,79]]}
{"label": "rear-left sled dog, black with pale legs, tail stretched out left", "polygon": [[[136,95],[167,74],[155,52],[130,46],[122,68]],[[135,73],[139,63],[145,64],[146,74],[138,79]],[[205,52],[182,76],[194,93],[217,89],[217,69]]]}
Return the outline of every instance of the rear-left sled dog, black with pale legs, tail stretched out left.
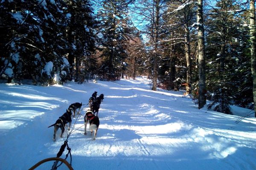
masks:
{"label": "rear-left sled dog, black with pale legs, tail stretched out left", "polygon": [[72,116],[72,112],[67,110],[66,113],[64,113],[61,117],[59,117],[59,119],[55,122],[55,124],[49,126],[49,127],[54,126],[53,141],[56,140],[56,133],[58,131],[58,128],[61,128],[61,138],[67,123],[69,123],[68,130],[70,130],[70,126],[72,122],[71,116]]}

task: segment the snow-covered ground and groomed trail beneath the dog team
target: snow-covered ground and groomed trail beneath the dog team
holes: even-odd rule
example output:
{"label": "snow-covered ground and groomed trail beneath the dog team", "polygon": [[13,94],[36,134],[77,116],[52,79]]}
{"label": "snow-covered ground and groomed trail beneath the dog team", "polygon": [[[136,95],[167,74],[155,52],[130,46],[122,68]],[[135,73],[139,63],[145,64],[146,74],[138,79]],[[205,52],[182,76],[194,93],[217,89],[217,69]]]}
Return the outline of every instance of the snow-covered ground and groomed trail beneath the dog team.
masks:
{"label": "snow-covered ground and groomed trail beneath the dog team", "polygon": [[0,169],[26,170],[56,157],[67,133],[60,138],[58,130],[53,142],[53,127],[47,127],[71,103],[87,104],[94,91],[105,95],[96,140],[84,136],[83,116],[72,121],[68,145],[75,170],[256,170],[255,118],[237,124],[239,116],[198,110],[182,92],[151,91],[143,78],[49,87],[0,84]]}

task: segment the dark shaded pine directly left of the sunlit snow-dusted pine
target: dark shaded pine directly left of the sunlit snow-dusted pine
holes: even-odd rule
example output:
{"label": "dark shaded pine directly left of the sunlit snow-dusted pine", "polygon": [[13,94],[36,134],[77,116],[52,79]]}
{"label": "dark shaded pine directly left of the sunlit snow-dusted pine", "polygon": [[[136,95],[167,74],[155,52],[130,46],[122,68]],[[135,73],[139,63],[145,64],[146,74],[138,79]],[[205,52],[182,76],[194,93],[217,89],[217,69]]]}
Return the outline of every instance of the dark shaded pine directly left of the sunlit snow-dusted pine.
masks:
{"label": "dark shaded pine directly left of the sunlit snow-dusted pine", "polygon": [[[93,18],[91,4],[87,0],[69,0],[67,1],[66,15],[67,41],[68,41],[68,60],[70,63],[70,80],[75,78],[75,82],[83,82],[89,79],[90,71],[89,57],[95,51],[96,21]],[[75,63],[75,65],[73,65]],[[75,73],[73,68],[75,68]]]}

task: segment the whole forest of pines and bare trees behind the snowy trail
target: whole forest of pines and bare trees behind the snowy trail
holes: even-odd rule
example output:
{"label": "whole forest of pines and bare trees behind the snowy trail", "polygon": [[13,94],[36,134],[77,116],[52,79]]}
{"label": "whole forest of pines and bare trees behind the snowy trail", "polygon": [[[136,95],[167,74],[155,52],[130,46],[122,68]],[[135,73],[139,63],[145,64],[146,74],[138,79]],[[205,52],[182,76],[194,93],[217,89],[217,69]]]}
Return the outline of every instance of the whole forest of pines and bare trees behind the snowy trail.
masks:
{"label": "whole forest of pines and bare trees behind the snowy trail", "polygon": [[143,76],[256,110],[255,36],[255,0],[0,0],[0,83]]}

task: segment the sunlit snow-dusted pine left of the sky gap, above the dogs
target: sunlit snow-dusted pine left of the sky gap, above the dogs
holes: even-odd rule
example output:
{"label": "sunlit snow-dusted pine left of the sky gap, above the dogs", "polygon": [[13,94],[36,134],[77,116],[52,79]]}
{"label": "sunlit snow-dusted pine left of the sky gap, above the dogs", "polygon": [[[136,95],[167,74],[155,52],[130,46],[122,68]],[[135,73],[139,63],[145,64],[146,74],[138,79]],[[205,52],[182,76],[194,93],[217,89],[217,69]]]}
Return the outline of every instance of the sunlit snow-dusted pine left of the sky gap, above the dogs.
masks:
{"label": "sunlit snow-dusted pine left of the sky gap, above the dogs", "polygon": [[127,57],[124,46],[130,31],[127,3],[125,0],[104,0],[98,13],[103,60],[99,74],[108,80],[120,78],[122,62]]}

